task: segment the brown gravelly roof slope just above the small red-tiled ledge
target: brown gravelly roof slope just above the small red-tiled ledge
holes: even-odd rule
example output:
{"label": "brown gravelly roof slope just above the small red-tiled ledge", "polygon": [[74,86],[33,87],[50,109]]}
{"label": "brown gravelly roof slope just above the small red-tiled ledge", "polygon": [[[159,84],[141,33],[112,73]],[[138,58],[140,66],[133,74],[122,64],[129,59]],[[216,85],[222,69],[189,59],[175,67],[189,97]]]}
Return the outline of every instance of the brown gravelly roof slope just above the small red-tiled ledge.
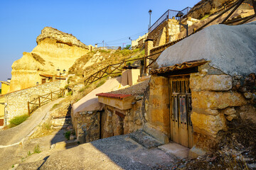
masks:
{"label": "brown gravelly roof slope just above the small red-tiled ledge", "polygon": [[144,94],[147,86],[149,86],[149,80],[143,81],[134,86],[129,86],[126,89],[111,91],[110,94],[132,94],[132,96],[141,96]]}

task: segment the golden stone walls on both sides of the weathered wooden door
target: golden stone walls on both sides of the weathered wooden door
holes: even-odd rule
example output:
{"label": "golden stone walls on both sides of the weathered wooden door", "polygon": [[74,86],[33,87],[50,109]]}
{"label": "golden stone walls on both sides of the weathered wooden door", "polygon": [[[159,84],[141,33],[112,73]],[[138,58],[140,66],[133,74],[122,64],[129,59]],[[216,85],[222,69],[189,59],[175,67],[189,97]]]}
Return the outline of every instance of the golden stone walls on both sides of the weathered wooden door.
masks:
{"label": "golden stone walls on both sides of the weathered wooden door", "polygon": [[[209,63],[190,74],[192,97],[193,151],[214,149],[223,132],[233,120],[256,123],[256,75],[233,76]],[[144,131],[159,141],[169,142],[170,98],[169,78],[152,75],[149,82],[149,109],[146,111]],[[201,152],[201,153],[206,153]],[[197,154],[197,153],[196,153]]]}

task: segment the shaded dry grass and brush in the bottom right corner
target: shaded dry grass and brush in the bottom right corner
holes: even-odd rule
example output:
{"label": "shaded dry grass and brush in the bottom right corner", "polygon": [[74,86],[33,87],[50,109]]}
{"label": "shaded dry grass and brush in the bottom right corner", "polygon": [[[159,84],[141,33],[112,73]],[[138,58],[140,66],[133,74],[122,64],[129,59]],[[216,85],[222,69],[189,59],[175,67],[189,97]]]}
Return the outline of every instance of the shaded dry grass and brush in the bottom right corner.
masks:
{"label": "shaded dry grass and brush in the bottom right corner", "polygon": [[212,155],[193,159],[183,169],[249,169],[256,160],[256,125],[241,119],[233,120]]}

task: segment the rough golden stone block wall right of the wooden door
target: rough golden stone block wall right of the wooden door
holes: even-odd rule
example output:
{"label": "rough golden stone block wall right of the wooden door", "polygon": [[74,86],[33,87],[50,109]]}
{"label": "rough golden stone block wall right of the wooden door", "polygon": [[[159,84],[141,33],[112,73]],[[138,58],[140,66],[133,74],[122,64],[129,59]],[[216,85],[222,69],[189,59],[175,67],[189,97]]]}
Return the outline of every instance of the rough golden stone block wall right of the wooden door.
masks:
{"label": "rough golden stone block wall right of the wooden door", "polygon": [[191,120],[196,147],[214,148],[220,132],[228,130],[228,123],[234,119],[256,123],[255,85],[255,74],[231,77],[208,64],[191,74]]}

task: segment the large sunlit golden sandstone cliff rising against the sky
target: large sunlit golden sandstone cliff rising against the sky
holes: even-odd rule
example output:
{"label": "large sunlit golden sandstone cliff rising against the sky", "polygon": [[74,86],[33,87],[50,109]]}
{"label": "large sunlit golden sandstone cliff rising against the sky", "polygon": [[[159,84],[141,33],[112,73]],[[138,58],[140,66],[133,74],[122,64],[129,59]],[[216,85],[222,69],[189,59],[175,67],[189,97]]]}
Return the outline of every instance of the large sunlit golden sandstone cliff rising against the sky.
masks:
{"label": "large sunlit golden sandstone cliff rising against the sky", "polygon": [[12,64],[10,91],[41,84],[39,74],[58,74],[58,68],[68,71],[75,60],[89,51],[73,35],[50,27],[43,28],[36,42],[32,52],[23,52],[23,57]]}

